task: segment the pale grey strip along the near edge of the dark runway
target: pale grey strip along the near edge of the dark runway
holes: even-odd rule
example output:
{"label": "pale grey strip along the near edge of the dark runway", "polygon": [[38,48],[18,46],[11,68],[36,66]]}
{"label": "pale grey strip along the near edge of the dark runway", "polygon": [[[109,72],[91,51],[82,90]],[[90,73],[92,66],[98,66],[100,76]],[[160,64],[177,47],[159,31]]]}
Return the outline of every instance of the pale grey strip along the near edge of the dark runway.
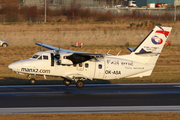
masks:
{"label": "pale grey strip along the near edge of the dark runway", "polygon": [[84,113],[180,112],[180,106],[29,107],[0,108],[0,114],[84,114]]}

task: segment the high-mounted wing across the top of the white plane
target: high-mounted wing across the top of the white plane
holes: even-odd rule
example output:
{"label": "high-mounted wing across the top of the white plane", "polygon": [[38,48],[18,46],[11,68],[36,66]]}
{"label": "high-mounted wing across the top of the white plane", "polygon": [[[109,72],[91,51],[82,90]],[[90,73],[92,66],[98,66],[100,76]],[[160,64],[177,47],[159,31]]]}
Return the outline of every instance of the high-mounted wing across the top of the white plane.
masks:
{"label": "high-mounted wing across the top of the white plane", "polygon": [[[50,49],[50,50],[58,50],[59,48],[58,47],[54,47],[54,46],[50,46],[50,45],[46,45],[46,44],[41,44],[41,43],[36,43],[36,45],[39,45],[39,46],[42,46],[42,47],[45,47],[47,49]],[[60,53],[64,53],[64,54],[68,54],[68,53],[73,53],[69,59],[71,60],[74,60],[73,58],[82,58],[83,57],[83,60],[81,59],[79,62],[78,62],[78,59],[76,59],[75,61],[73,61],[73,63],[80,63],[80,62],[83,62],[83,61],[86,61],[86,60],[89,60],[89,59],[92,59],[92,58],[100,58],[100,57],[104,57],[104,54],[103,53],[88,53],[88,52],[77,52],[77,51],[72,51],[72,50],[66,50],[66,49],[60,49]]]}

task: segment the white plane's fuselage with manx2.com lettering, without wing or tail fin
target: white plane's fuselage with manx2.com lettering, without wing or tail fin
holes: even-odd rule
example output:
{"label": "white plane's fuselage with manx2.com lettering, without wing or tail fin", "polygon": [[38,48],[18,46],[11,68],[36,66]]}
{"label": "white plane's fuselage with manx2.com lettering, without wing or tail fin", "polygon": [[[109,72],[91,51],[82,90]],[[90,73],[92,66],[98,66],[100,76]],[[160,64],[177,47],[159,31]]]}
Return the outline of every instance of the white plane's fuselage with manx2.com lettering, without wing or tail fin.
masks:
{"label": "white plane's fuselage with manx2.com lettering, without wing or tail fin", "polygon": [[[97,60],[88,60],[83,63],[65,65],[58,64],[52,59],[49,52],[38,52],[39,58],[30,58],[17,61],[9,68],[20,74],[60,76],[72,80],[73,77],[83,76],[85,79],[117,79],[130,77],[141,72],[148,72],[154,65],[143,64],[126,59],[125,56],[105,56]],[[41,58],[40,58],[41,57]],[[45,58],[45,59],[44,59]],[[123,59],[122,59],[123,58]]]}

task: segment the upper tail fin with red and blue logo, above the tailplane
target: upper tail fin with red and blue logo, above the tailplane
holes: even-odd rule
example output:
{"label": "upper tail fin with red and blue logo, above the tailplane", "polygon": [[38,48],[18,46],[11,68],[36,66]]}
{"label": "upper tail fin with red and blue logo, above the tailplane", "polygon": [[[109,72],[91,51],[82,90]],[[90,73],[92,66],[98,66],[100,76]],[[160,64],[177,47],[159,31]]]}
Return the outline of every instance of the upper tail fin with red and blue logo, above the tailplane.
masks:
{"label": "upper tail fin with red and blue logo, above the tailplane", "polygon": [[133,51],[135,54],[161,53],[172,27],[156,26]]}

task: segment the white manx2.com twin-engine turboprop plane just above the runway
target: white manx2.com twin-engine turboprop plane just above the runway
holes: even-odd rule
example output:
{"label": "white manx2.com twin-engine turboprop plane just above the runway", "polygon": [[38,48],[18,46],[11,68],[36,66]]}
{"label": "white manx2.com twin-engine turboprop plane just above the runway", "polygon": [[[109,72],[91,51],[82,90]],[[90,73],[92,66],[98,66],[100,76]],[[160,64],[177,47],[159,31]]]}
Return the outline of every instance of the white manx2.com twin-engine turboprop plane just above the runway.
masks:
{"label": "white manx2.com twin-engine turboprop plane just above the runway", "polygon": [[9,69],[19,74],[27,74],[31,84],[35,79],[31,75],[59,76],[64,84],[76,82],[78,88],[84,86],[84,80],[119,79],[149,76],[162,51],[171,27],[156,26],[136,49],[128,48],[129,55],[109,55],[65,50],[42,43],[36,43],[51,51],[40,51],[26,60],[14,62]]}

